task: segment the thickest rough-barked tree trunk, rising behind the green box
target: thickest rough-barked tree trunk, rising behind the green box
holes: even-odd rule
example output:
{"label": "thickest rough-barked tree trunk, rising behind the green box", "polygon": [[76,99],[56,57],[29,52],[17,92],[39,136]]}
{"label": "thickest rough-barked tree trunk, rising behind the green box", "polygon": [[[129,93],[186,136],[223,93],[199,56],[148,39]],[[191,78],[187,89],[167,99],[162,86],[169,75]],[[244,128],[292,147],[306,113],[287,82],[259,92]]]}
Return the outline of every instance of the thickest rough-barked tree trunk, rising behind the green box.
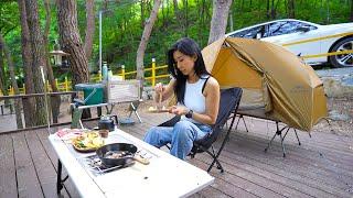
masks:
{"label": "thickest rough-barked tree trunk, rising behind the green box", "polygon": [[69,54],[68,62],[73,73],[73,86],[81,82],[88,82],[88,61],[77,28],[76,1],[58,0],[57,7],[61,46],[64,52]]}

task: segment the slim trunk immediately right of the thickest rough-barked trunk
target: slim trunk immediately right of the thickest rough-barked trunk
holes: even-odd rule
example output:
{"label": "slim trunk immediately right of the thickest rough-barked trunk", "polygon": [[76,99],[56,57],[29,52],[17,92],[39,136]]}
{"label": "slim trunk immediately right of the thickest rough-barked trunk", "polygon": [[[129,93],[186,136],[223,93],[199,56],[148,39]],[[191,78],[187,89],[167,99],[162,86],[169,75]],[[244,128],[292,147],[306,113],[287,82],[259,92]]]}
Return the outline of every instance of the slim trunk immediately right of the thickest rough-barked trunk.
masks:
{"label": "slim trunk immediately right of the thickest rough-barked trunk", "polygon": [[87,59],[90,58],[93,50],[93,37],[95,35],[95,4],[94,0],[86,0],[86,36],[85,36],[85,54]]}

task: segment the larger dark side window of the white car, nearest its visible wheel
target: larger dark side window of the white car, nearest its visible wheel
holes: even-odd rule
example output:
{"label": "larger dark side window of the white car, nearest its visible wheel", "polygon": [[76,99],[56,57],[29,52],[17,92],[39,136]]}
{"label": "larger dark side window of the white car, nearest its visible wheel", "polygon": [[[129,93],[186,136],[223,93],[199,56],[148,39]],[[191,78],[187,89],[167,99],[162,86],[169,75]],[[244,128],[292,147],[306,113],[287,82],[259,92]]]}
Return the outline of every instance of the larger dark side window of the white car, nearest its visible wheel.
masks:
{"label": "larger dark side window of the white car, nearest its visible wheel", "polygon": [[307,26],[309,30],[315,30],[317,28],[308,23],[302,23],[300,21],[278,21],[269,24],[270,36],[291,34],[300,32],[299,28]]}

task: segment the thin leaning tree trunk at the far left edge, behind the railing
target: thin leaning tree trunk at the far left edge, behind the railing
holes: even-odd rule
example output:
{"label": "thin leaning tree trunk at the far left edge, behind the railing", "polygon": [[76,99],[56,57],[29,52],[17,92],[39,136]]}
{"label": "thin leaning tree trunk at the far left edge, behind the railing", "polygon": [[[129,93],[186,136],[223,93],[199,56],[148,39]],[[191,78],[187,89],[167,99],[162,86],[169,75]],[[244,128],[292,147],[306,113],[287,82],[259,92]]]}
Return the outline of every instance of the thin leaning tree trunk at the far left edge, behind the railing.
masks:
{"label": "thin leaning tree trunk at the far left edge, behind the railing", "polygon": [[[10,53],[10,50],[7,46],[7,44],[4,42],[4,38],[2,37],[1,34],[0,34],[0,45],[2,45],[3,53],[4,53],[4,55],[7,57],[7,61],[8,61],[8,67],[9,67],[9,73],[10,73],[10,77],[11,77],[11,84],[12,84],[14,94],[15,95],[20,95],[18,82],[15,80],[14,65],[13,65],[13,62],[12,62],[12,58],[11,58],[11,53]],[[23,129],[21,107],[22,107],[21,99],[14,99],[14,113],[15,113],[15,122],[17,122],[18,129]]]}

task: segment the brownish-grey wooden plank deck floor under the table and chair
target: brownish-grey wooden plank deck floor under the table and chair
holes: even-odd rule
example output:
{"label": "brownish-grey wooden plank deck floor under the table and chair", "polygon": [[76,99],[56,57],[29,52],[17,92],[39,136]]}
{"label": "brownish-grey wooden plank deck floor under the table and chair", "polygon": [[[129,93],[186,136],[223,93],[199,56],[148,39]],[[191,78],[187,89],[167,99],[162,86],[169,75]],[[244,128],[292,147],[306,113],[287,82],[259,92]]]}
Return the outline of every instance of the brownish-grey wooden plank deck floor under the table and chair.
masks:
{"label": "brownish-grey wooden plank deck floor under the table and chair", "polygon": [[[165,120],[162,114],[140,116],[143,123],[120,129],[141,139],[148,128]],[[225,173],[213,168],[215,183],[192,197],[353,197],[352,138],[318,132],[310,139],[299,132],[298,145],[290,133],[284,158],[278,139],[264,152],[275,124],[246,121],[250,132],[240,123],[221,155]],[[201,154],[189,162],[206,169],[210,157]],[[56,163],[46,129],[0,134],[0,197],[79,197],[69,179],[56,195]]]}

